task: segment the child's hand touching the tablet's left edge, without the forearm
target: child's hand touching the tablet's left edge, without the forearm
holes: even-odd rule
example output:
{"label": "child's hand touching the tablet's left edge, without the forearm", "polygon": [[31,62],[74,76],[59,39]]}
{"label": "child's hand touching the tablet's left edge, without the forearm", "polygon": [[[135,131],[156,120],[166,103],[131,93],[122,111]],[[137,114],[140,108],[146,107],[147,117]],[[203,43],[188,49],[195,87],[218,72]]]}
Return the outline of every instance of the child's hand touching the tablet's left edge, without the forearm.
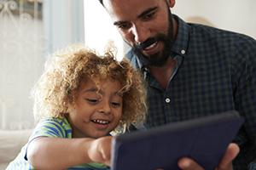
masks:
{"label": "child's hand touching the tablet's left edge, without the forearm", "polygon": [[111,142],[113,137],[102,137],[91,142],[88,156],[91,161],[101,162],[108,166],[111,163]]}

